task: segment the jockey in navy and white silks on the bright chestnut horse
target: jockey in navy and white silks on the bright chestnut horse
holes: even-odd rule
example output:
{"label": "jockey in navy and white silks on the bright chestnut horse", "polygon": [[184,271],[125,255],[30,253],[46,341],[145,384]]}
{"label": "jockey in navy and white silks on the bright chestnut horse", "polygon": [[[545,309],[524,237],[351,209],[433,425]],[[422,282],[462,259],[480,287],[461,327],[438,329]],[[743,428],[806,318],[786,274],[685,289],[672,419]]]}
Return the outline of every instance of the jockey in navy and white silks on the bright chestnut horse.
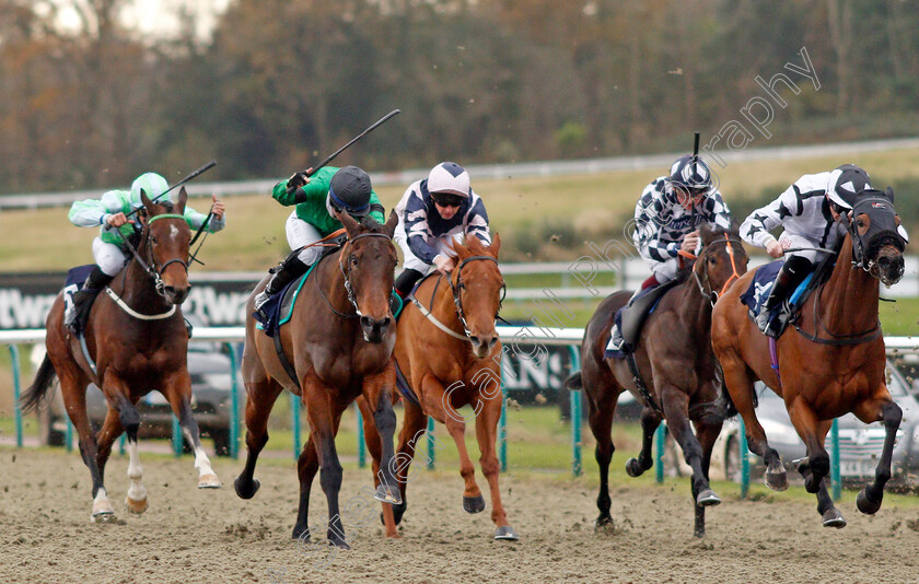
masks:
{"label": "jockey in navy and white silks on the bright chestnut horse", "polygon": [[403,250],[403,271],[396,293],[405,299],[427,273],[446,275],[454,268],[452,243],[469,234],[491,245],[488,214],[469,187],[469,173],[455,162],[431,168],[428,178],[416,180],[396,206],[399,224],[394,240]]}

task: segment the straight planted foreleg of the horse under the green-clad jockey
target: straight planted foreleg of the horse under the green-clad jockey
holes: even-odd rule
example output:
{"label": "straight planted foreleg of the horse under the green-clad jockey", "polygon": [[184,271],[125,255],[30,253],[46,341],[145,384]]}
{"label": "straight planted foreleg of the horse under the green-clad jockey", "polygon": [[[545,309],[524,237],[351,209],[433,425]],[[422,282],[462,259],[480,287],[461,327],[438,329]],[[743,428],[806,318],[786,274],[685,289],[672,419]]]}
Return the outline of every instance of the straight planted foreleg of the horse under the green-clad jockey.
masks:
{"label": "straight planted foreleg of the horse under the green-clad jockey", "polygon": [[[336,420],[340,419],[346,406],[331,401],[331,390],[318,379],[303,377],[304,406],[310,417],[310,440],[315,443],[319,463],[319,484],[328,503],[328,541],[336,548],[351,549],[345,538],[341,516],[338,512],[338,493],[341,490],[341,463],[335,448]],[[309,456],[309,455],[307,455]],[[299,469],[298,469],[299,470]],[[303,503],[301,481],[301,504]]]}

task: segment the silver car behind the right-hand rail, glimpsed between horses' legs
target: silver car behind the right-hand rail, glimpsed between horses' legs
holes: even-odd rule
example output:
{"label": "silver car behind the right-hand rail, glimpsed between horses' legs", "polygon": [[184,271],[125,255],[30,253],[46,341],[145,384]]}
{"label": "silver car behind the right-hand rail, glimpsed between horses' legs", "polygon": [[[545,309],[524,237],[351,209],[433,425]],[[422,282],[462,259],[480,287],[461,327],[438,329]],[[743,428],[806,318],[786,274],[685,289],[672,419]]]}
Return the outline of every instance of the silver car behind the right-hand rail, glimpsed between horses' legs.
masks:
{"label": "silver car behind the right-hand rail, glimpsed between horses' legs", "polygon": [[[896,365],[887,360],[887,388],[891,396],[903,409],[903,420],[897,430],[893,455],[892,484],[910,486],[919,479],[919,401],[910,393],[910,385],[906,382]],[[766,432],[769,445],[776,448],[782,457],[789,478],[800,478],[793,460],[806,456],[804,443],[791,423],[784,401],[764,383],[757,382],[755,390],[759,398],[756,418]],[[721,434],[712,452],[712,478],[725,478],[734,482],[741,481],[741,436],[740,417],[725,420]],[[838,420],[839,428],[839,475],[844,484],[862,486],[872,477],[877,466],[881,448],[884,445],[885,430],[881,422],[862,423],[852,413],[847,413]],[[827,451],[830,439],[827,435]],[[751,479],[758,480],[765,472],[763,459],[748,452]],[[667,436],[667,452],[664,468],[670,475],[690,475],[689,467],[683,460],[683,453],[671,436]]]}

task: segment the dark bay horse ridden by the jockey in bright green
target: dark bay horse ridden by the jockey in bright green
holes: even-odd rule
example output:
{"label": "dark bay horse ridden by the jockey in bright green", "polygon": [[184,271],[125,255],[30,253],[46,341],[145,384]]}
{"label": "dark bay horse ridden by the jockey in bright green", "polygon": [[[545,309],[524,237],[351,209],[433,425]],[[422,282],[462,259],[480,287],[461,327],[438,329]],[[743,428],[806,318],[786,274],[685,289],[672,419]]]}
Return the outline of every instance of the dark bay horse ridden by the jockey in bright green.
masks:
{"label": "dark bay horse ridden by the jockey in bright green", "polygon": [[310,490],[316,471],[322,468],[319,484],[328,502],[327,540],[337,548],[350,549],[338,509],[342,469],[335,436],[342,412],[358,396],[372,405],[375,431],[383,436],[382,484],[374,497],[389,503],[400,502],[391,465],[396,429],[393,411],[396,330],[391,326],[389,295],[397,261],[392,242],[397,217],[391,213],[384,225],[370,218],[358,223],[348,213],[337,218],[345,226],[348,241],[325,255],[306,276],[291,319],[280,328],[280,342],[295,379],[288,374],[272,339],[256,329],[251,316],[253,299],[266,285],[267,277],[246,303],[249,317],[242,374],[246,386],[247,455],[235,489],[242,499],[251,499],[258,490],[255,464],[268,441],[268,414],[287,388],[300,397],[310,421],[310,439],[296,463],[300,509],[292,537],[310,540]]}

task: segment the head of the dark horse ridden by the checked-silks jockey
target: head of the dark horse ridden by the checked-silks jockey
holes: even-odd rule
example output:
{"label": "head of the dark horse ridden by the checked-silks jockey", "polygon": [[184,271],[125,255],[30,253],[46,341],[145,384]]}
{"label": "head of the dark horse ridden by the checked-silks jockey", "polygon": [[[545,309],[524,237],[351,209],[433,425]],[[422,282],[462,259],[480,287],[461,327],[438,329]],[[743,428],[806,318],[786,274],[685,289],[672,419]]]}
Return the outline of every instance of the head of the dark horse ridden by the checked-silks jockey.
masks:
{"label": "head of the dark horse ridden by the checked-silks jockey", "polygon": [[702,253],[693,266],[693,271],[700,290],[709,295],[713,303],[746,272],[749,258],[741,243],[740,225],[736,221],[732,221],[726,230],[703,223],[699,235],[702,240]]}

